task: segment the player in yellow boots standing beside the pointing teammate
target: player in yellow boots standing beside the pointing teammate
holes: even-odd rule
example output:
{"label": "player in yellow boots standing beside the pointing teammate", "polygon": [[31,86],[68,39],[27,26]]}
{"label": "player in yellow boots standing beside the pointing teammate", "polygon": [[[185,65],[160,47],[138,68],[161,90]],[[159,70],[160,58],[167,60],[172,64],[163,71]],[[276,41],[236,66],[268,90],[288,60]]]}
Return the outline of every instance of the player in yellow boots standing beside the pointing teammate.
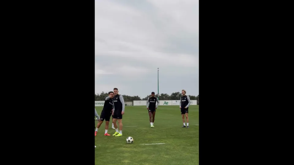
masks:
{"label": "player in yellow boots standing beside the pointing teammate", "polygon": [[[114,106],[115,108],[112,111],[112,124],[115,127],[115,133],[112,136],[123,136],[123,114],[125,114],[125,101],[123,100],[123,96],[119,94],[119,90],[117,88],[113,89],[114,92]],[[119,122],[119,130],[116,124],[116,121]]]}

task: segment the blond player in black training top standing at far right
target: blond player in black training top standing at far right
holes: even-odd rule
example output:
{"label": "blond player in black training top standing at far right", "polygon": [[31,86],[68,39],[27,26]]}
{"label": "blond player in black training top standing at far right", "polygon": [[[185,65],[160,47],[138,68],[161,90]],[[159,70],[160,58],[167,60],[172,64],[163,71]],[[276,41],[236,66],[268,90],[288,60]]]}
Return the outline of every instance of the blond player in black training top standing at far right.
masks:
{"label": "blond player in black training top standing at far right", "polygon": [[189,118],[188,118],[188,113],[189,113],[189,105],[190,105],[190,97],[186,95],[186,90],[182,90],[182,96],[180,98],[180,109],[181,109],[181,114],[182,114],[182,119],[183,119],[183,126],[185,126],[185,116],[186,115],[186,120],[187,120],[187,128],[189,128]]}

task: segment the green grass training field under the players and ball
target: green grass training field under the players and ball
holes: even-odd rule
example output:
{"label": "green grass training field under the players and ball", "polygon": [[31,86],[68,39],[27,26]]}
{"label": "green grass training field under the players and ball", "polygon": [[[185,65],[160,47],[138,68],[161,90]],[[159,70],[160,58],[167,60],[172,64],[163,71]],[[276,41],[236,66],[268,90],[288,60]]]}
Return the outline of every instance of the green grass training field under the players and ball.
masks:
{"label": "green grass training field under the players and ball", "polygon": [[[95,108],[100,115],[103,107]],[[115,130],[111,128],[111,122],[108,129],[111,136],[104,136],[105,121],[99,128],[95,137],[97,146],[95,164],[197,165],[199,164],[198,121],[198,105],[189,107],[190,128],[182,128],[179,106],[159,106],[156,110],[154,127],[150,128],[146,106],[126,106],[122,137],[112,136]],[[95,121],[96,126],[97,123],[98,121]],[[126,138],[129,136],[134,138],[133,144],[126,143]],[[165,144],[143,145],[152,143]]]}

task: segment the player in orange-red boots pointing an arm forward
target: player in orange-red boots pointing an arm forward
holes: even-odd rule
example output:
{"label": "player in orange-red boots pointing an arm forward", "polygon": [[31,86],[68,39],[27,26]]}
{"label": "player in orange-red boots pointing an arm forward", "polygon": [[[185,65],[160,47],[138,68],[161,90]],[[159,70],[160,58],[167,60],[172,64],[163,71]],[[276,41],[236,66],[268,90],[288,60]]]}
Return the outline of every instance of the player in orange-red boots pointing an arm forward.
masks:
{"label": "player in orange-red boots pointing an arm forward", "polygon": [[100,121],[97,124],[97,128],[95,131],[95,136],[98,132],[98,128],[101,126],[101,124],[103,123],[103,121],[105,120],[105,136],[110,136],[110,134],[107,133],[108,131],[108,125],[109,125],[109,120],[110,120],[110,116],[112,113],[112,110],[114,108],[114,102],[113,102],[113,92],[108,92],[108,97],[105,98],[104,101],[104,106],[103,106],[103,110],[101,111],[101,115],[100,115]]}

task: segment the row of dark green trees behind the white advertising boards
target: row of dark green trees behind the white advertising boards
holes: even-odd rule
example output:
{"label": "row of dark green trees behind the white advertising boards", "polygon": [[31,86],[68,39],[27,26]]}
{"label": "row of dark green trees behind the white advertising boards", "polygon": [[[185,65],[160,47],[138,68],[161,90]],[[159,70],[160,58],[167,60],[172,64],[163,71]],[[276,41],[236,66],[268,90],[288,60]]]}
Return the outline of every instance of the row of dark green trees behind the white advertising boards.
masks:
{"label": "row of dark green trees behind the white advertising boards", "polygon": [[[182,94],[180,92],[174,92],[171,95],[160,94],[159,100],[179,100],[181,95]],[[95,94],[95,101],[104,101],[105,97],[107,96],[108,96],[108,93],[104,93],[104,92],[102,92],[101,94]],[[139,96],[128,96],[128,95],[122,95],[122,96],[124,101],[147,100],[149,97],[151,97],[151,95],[147,95],[145,98],[141,99]],[[155,95],[155,97],[157,96],[158,94]],[[199,102],[199,95],[198,96],[188,95],[188,96],[190,97],[190,100],[197,100],[197,102]]]}

